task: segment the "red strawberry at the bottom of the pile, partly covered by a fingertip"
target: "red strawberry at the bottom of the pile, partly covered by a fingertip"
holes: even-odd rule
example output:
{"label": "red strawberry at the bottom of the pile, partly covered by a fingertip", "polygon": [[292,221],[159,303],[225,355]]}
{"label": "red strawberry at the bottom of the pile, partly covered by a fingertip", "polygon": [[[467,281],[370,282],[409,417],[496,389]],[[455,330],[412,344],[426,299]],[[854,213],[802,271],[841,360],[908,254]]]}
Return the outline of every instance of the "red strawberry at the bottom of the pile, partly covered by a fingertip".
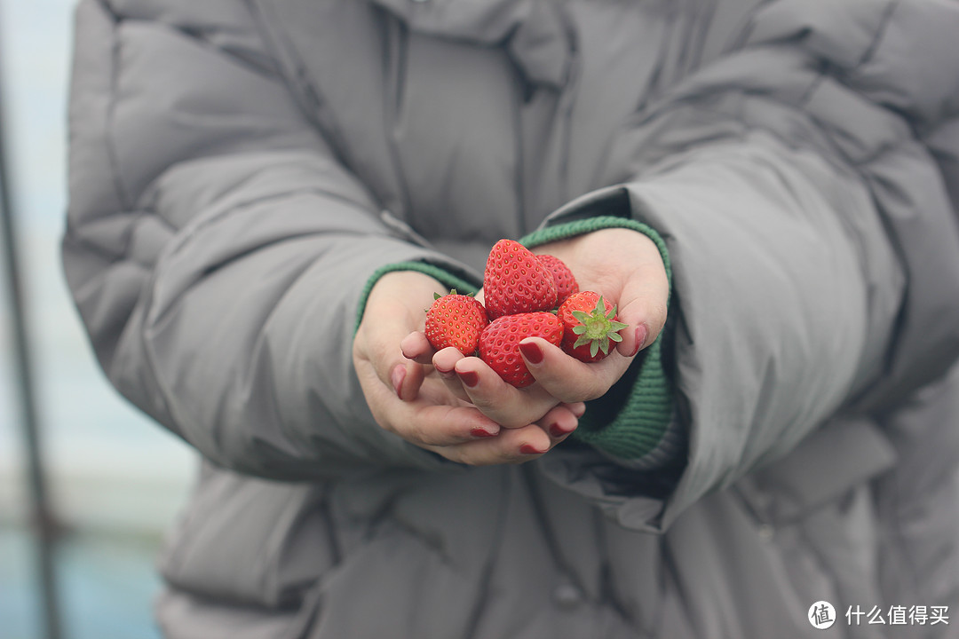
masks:
{"label": "red strawberry at the bottom of the pile, partly covered by a fingertip", "polygon": [[542,337],[559,346],[563,325],[552,313],[518,313],[493,320],[479,335],[480,359],[503,377],[503,381],[517,388],[535,381],[520,355],[519,344],[526,337]]}

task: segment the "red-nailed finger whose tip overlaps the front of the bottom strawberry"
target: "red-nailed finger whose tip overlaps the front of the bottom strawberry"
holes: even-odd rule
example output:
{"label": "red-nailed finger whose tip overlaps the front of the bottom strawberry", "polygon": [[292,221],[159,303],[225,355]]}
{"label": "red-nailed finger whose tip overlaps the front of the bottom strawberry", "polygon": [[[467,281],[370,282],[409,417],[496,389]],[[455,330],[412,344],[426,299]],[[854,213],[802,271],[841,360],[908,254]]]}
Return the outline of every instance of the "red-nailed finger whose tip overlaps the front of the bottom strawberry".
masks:
{"label": "red-nailed finger whose tip overlaps the front of the bottom strawberry", "polygon": [[604,359],[587,364],[541,337],[521,341],[520,353],[526,368],[536,377],[537,386],[566,403],[602,397],[632,361],[614,351]]}

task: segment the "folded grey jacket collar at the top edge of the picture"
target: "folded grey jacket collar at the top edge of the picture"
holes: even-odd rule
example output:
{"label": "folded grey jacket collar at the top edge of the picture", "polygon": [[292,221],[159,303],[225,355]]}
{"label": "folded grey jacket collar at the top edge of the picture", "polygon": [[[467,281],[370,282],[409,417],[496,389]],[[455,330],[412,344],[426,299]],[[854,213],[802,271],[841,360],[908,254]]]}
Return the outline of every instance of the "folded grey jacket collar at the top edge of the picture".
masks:
{"label": "folded grey jacket collar at the top edge of the picture", "polygon": [[557,0],[372,0],[410,31],[503,46],[534,83],[566,83],[572,37]]}

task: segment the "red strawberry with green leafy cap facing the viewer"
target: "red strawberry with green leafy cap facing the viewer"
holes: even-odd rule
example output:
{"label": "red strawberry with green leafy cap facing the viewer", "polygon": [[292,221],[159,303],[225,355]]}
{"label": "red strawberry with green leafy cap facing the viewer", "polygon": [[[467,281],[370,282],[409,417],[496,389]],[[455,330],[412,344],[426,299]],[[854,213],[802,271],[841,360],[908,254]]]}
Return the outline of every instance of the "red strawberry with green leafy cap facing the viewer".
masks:
{"label": "red strawberry with green leafy cap facing the viewer", "polygon": [[602,295],[592,290],[571,295],[557,313],[563,323],[563,350],[584,362],[609,354],[610,341],[621,342],[628,324],[617,321],[616,307],[606,308]]}

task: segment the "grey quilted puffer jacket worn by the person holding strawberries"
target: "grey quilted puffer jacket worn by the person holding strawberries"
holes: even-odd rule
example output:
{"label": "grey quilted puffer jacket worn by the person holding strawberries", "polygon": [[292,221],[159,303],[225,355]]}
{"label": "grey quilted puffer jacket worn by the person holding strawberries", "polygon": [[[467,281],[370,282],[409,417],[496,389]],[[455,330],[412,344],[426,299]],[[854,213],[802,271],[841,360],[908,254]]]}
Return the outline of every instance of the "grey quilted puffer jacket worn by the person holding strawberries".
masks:
{"label": "grey quilted puffer jacket worn by the person holding strawberries", "polygon": [[[82,0],[66,277],[205,459],[166,635],[959,627],[956,34],[951,0]],[[377,426],[377,274],[478,285],[598,217],[659,233],[672,298],[578,440],[463,468]]]}

